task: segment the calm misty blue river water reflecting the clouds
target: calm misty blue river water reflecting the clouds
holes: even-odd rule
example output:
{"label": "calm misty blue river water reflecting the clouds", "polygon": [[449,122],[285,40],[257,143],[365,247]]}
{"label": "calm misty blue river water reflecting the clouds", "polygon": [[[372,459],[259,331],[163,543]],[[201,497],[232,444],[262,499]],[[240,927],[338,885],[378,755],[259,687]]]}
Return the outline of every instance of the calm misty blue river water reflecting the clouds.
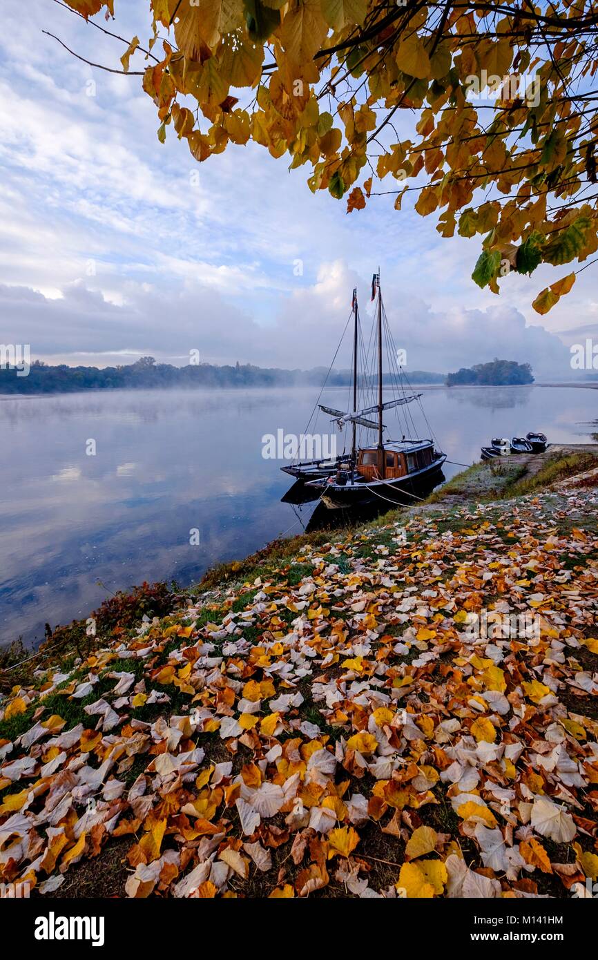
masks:
{"label": "calm misty blue river water reflecting the clouds", "polygon": [[[593,390],[422,389],[439,444],[465,464],[492,436],[533,429],[586,443],[596,429]],[[343,409],[346,399],[323,396]],[[314,401],[310,389],[0,397],[0,643],[36,642],[46,621],[87,616],[108,590],[188,586],[215,562],[299,533],[314,505],[280,502],[291,477],[262,457],[262,436],[300,434]],[[397,436],[390,424],[387,435]]]}

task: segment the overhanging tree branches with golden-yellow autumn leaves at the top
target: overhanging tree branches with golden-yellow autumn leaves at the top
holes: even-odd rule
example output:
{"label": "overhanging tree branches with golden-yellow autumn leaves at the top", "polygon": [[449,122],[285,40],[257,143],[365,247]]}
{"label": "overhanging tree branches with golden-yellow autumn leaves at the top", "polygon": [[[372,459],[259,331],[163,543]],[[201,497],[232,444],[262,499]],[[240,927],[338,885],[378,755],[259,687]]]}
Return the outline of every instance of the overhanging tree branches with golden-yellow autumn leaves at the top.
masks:
{"label": "overhanging tree branches with golden-yellow autumn leaves at the top", "polygon": [[[66,2],[115,15],[114,0]],[[253,140],[347,213],[413,192],[443,237],[479,235],[472,277],[494,293],[598,248],[596,0],[152,0],[148,29],[123,70],[145,56],[159,139],[199,161]]]}

